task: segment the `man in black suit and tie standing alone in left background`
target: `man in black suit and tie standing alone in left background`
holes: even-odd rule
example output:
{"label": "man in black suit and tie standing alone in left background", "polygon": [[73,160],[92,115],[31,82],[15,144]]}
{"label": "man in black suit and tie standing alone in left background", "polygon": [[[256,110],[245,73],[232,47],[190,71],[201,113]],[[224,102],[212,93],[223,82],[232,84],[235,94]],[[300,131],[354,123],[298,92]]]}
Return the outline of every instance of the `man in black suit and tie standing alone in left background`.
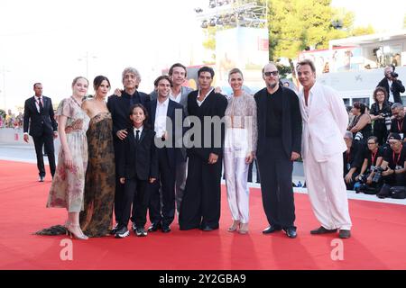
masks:
{"label": "man in black suit and tie standing alone in left background", "polygon": [[[58,137],[58,124],[53,114],[51,98],[42,95],[42,84],[33,85],[35,95],[25,100],[24,103],[24,141],[28,143],[29,134],[32,136],[37,154],[37,166],[40,174],[39,181],[45,178],[45,167],[43,165],[42,146],[48,154],[51,175],[55,174],[55,149],[53,139]],[[30,132],[28,133],[28,131]]]}

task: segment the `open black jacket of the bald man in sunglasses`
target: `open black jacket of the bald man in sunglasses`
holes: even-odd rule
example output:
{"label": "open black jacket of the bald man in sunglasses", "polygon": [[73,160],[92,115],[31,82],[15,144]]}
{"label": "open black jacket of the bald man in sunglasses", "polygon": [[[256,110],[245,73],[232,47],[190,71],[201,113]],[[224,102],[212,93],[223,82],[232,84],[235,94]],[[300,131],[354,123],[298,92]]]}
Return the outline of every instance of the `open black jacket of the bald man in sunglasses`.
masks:
{"label": "open black jacket of the bald man in sunglasses", "polygon": [[[291,157],[291,152],[301,152],[301,115],[299,98],[289,88],[280,86],[283,92],[282,110],[282,142],[286,155]],[[263,88],[254,94],[257,107],[258,142],[256,155],[263,156],[269,147],[266,147],[266,97],[267,89]]]}

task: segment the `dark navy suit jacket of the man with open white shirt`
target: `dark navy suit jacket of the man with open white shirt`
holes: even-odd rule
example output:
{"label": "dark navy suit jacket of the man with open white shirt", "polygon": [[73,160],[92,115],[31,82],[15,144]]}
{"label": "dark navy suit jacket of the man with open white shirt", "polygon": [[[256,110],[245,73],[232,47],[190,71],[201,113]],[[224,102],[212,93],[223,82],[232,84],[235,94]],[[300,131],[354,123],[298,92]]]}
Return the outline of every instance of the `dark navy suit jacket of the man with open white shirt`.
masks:
{"label": "dark navy suit jacket of the man with open white shirt", "polygon": [[[147,104],[148,113],[150,114],[150,125],[152,130],[155,129],[155,114],[156,114],[156,106],[158,100],[155,99]],[[176,122],[176,112],[180,115],[178,119],[178,123]],[[180,103],[176,103],[175,101],[169,100],[168,103],[168,112],[166,114],[169,118],[171,118],[171,122],[166,122],[166,130],[168,132],[168,142],[171,143],[171,147],[166,147],[166,151],[168,153],[168,160],[169,164],[172,168],[176,166],[177,163],[181,161],[186,161],[186,158],[182,155],[180,146],[182,144],[183,139],[183,121],[184,121],[184,111],[183,106]],[[178,127],[176,127],[178,125]],[[175,129],[176,128],[176,129]],[[169,145],[168,145],[169,146]]]}

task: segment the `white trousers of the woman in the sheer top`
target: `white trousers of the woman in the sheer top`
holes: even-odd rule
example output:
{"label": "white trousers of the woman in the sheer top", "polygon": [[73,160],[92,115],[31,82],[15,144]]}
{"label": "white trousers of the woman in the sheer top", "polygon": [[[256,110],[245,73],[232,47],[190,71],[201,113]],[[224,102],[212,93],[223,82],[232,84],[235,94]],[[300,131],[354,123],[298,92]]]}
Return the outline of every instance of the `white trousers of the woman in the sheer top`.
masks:
{"label": "white trousers of the woman in the sheer top", "polygon": [[246,130],[226,129],[224,169],[226,175],[227,200],[233,220],[249,221],[249,189],[247,185],[249,164]]}

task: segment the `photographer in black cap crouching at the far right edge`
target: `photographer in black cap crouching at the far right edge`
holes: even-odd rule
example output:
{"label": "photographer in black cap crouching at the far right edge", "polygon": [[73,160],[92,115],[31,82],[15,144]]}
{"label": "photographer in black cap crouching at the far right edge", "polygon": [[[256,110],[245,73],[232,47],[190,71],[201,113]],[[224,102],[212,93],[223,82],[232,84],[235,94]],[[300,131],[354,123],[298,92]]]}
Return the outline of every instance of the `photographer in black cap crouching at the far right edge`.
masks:
{"label": "photographer in black cap crouching at the far right edge", "polygon": [[401,143],[401,135],[399,133],[389,134],[388,142],[390,148],[384,150],[381,165],[384,184],[381,191],[376,194],[379,198],[390,197],[393,187],[406,184],[406,148]]}

